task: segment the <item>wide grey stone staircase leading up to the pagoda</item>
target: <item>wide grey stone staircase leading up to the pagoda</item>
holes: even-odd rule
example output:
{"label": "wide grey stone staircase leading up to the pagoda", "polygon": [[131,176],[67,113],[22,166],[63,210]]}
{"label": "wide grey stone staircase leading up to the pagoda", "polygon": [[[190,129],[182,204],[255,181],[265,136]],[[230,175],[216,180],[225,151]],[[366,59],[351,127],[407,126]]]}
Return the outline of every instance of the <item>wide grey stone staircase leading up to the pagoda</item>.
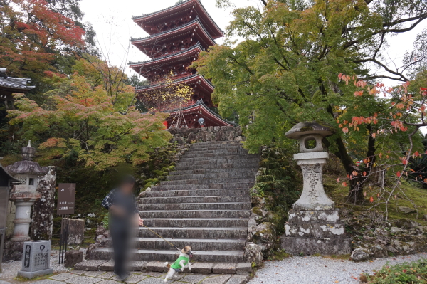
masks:
{"label": "wide grey stone staircase leading up to the pagoda", "polygon": [[[251,214],[249,189],[259,156],[240,142],[191,144],[167,181],[139,200],[144,225],[179,248],[191,246],[193,260],[242,263]],[[135,261],[174,261],[178,252],[147,228],[133,239]],[[93,260],[110,260],[111,248],[90,252]]]}

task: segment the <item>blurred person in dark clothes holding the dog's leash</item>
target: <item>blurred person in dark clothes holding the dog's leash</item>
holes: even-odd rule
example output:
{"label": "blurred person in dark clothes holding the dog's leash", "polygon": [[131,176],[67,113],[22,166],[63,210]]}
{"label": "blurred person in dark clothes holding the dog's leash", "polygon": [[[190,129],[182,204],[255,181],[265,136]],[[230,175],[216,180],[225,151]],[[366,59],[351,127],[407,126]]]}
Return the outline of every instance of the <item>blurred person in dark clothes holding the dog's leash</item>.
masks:
{"label": "blurred person in dark clothes holding the dog's leash", "polygon": [[112,247],[114,249],[114,272],[120,278],[127,278],[125,261],[129,251],[130,230],[132,226],[142,226],[144,220],[139,217],[137,202],[133,189],[135,178],[126,176],[117,189],[112,189],[105,199],[102,200],[102,206],[110,211],[110,234],[112,238]]}

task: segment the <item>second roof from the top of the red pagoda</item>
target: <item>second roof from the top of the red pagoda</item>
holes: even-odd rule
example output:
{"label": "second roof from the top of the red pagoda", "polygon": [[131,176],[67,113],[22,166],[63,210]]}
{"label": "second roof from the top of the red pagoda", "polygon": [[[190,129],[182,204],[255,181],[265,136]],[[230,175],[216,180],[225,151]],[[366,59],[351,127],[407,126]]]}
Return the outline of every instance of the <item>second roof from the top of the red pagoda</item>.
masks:
{"label": "second roof from the top of the red pagoda", "polygon": [[[196,30],[194,29],[195,27],[197,27]],[[171,37],[180,36],[181,34],[188,32],[188,31],[202,31],[204,33],[204,35],[206,37],[205,40],[203,40],[203,38],[199,38],[199,41],[200,40],[202,41],[202,43],[200,43],[200,44],[204,48],[208,48],[209,46],[214,46],[216,44],[214,38],[211,37],[211,35],[208,33],[208,31],[206,31],[206,28],[204,28],[201,21],[199,21],[199,17],[196,17],[196,19],[194,19],[193,21],[190,21],[189,23],[186,23],[185,25],[176,26],[175,28],[171,28],[167,31],[155,33],[152,36],[145,36],[143,38],[130,38],[130,41],[134,46],[137,46],[139,43],[147,44],[147,43],[154,42],[154,44],[156,44],[156,43],[160,42],[159,39],[161,39],[161,38],[171,38]],[[139,49],[141,49],[141,48],[139,48]],[[151,48],[149,48],[149,49],[151,49]],[[143,52],[145,53],[145,51],[143,51]]]}

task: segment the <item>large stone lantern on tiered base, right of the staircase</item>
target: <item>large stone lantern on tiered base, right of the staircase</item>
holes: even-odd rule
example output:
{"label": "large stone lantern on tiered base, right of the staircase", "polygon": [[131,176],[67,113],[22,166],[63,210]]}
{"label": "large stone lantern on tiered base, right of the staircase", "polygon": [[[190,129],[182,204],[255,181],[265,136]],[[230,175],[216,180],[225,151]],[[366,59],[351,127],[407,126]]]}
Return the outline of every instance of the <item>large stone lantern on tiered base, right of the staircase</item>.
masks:
{"label": "large stone lantern on tiered base, right of the staircase", "polygon": [[294,155],[302,169],[304,186],[300,199],[289,211],[282,248],[287,253],[310,255],[351,253],[351,239],[339,222],[339,209],[325,194],[322,170],[329,154],[323,151],[322,138],[332,135],[331,127],[317,122],[300,122],[286,137],[300,140],[300,152]]}

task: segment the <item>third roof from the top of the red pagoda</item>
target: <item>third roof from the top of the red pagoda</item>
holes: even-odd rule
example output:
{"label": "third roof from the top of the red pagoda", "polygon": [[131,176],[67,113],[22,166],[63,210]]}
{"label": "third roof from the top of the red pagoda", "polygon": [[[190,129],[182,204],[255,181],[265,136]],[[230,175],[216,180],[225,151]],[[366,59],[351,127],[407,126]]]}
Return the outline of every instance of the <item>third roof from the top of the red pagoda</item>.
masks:
{"label": "third roof from the top of the red pagoda", "polygon": [[[165,56],[160,56],[148,61],[138,61],[138,62],[129,62],[130,68],[137,71],[139,68],[148,68],[153,65],[166,65],[167,63],[173,63],[176,61],[182,61],[188,56],[194,56],[196,53],[203,51],[204,48],[197,43],[195,46],[191,46],[190,48],[186,48],[182,51],[176,51],[174,53],[169,53]],[[137,71],[137,73],[139,73]]]}

